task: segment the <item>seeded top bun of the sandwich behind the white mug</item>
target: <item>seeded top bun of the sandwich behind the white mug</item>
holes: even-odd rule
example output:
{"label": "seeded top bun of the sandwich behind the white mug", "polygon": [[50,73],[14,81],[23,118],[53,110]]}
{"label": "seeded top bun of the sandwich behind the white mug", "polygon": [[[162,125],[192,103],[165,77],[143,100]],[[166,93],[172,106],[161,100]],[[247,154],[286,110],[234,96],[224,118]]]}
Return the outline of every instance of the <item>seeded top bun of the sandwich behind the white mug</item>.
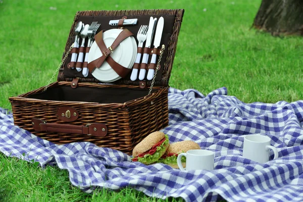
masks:
{"label": "seeded top bun of the sandwich behind the white mug", "polygon": [[191,140],[185,140],[180,142],[174,142],[171,143],[168,147],[166,154],[174,153],[174,154],[180,154],[182,152],[186,153],[186,151],[191,149],[201,149],[200,146]]}

